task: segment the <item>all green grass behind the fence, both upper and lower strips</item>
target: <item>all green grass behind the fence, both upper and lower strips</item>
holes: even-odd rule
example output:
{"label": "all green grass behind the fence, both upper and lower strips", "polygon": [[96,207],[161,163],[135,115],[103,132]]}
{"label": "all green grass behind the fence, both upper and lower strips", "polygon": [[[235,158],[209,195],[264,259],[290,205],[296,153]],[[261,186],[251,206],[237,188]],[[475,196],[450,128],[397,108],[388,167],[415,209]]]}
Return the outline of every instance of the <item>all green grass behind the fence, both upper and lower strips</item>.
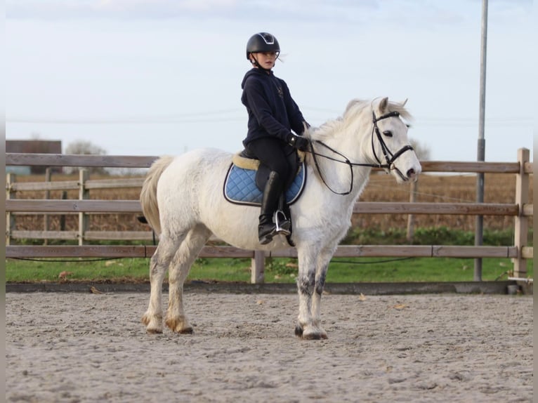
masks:
{"label": "all green grass behind the fence, both upper and lower strips", "polygon": [[[532,244],[532,230],[529,243]],[[474,234],[446,227],[417,228],[414,244],[472,245]],[[485,230],[484,244],[512,243],[511,230]],[[405,244],[405,231],[350,230],[343,244]],[[61,272],[70,272],[69,281],[147,282],[149,258],[6,260],[6,282],[58,282]],[[192,266],[189,280],[250,282],[250,259],[200,258]],[[483,259],[484,280],[506,279],[513,265],[510,259]],[[294,283],[297,260],[268,258],[265,282]],[[532,260],[527,276],[532,278]],[[459,258],[334,258],[329,265],[327,282],[470,282],[474,277],[474,260]],[[65,280],[64,280],[65,281]]]}

